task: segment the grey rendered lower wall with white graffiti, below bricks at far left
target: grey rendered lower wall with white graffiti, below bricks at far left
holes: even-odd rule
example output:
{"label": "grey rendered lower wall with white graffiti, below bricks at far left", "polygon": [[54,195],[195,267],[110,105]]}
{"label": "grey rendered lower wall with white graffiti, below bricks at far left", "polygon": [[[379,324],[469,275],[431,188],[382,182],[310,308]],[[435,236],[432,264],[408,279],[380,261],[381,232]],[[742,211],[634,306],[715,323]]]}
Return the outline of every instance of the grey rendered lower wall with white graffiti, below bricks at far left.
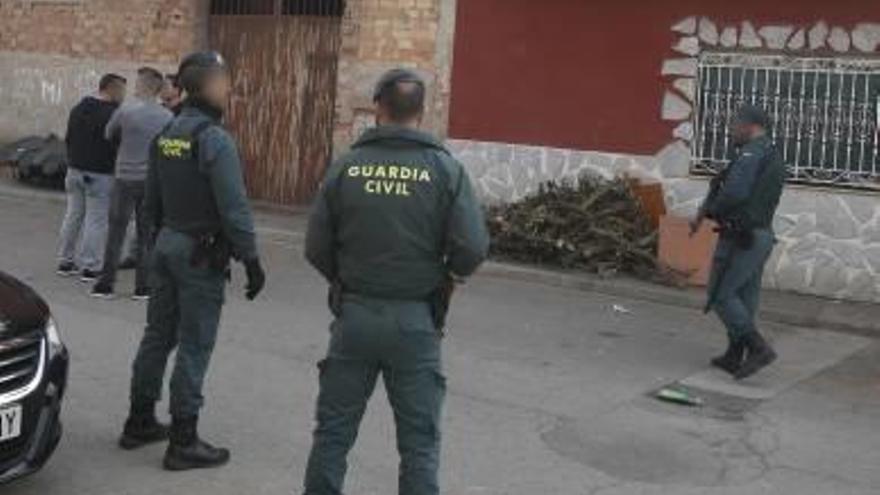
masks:
{"label": "grey rendered lower wall with white graffiti, below bricks at far left", "polygon": [[67,115],[80,98],[97,91],[98,80],[116,72],[134,81],[136,71],[152,65],[0,51],[0,142],[30,134],[64,136]]}

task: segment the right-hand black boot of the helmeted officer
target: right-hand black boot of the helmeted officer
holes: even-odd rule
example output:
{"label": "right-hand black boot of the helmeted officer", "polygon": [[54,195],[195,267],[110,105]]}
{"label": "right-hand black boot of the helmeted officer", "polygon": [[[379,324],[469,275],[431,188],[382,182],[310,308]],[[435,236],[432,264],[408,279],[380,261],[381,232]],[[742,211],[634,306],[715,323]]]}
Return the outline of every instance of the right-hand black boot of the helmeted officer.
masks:
{"label": "right-hand black boot of the helmeted officer", "polygon": [[163,466],[168,471],[218,467],[229,462],[229,451],[202,441],[197,431],[198,417],[174,418],[171,438]]}

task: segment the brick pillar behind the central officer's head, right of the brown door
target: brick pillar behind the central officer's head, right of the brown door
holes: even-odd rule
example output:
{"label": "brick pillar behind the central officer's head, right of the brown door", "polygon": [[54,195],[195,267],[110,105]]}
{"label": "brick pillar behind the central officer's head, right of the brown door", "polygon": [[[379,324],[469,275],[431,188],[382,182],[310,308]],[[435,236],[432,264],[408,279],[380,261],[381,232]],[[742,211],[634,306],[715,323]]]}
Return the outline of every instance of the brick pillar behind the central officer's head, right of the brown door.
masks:
{"label": "brick pillar behind the central officer's head, right of the brown door", "polygon": [[424,127],[445,135],[456,0],[350,0],[336,95],[335,152],[373,122],[372,88],[387,69],[417,70],[428,83]]}

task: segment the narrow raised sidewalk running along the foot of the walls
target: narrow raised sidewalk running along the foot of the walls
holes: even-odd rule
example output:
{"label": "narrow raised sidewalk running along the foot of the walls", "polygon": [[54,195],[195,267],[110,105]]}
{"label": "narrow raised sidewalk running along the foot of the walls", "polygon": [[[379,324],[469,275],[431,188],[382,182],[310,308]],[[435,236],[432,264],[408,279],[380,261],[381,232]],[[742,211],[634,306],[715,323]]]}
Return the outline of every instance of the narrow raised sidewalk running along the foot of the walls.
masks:
{"label": "narrow raised sidewalk running along the foot of the walls", "polygon": [[[42,200],[63,204],[64,195],[11,179],[0,179],[0,196]],[[257,203],[268,215],[299,215],[305,209]],[[622,298],[650,301],[701,311],[705,303],[702,289],[679,289],[627,277],[602,279],[595,275],[563,272],[511,263],[489,262],[480,271],[486,277],[504,278],[553,287],[596,292]],[[880,336],[880,305],[837,301],[827,298],[765,290],[760,318],[764,321],[799,327],[819,328],[866,336]],[[638,310],[638,308],[628,308]]]}

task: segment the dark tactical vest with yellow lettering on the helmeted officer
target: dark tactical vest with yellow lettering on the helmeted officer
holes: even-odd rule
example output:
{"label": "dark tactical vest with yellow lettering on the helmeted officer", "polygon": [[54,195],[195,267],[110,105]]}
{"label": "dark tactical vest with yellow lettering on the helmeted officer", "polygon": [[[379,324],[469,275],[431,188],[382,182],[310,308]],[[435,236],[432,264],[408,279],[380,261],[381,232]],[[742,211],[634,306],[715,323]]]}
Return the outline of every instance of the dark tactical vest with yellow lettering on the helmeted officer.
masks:
{"label": "dark tactical vest with yellow lettering on the helmeted officer", "polygon": [[191,235],[213,234],[221,229],[217,202],[207,172],[199,160],[199,136],[216,125],[204,121],[189,132],[159,134],[153,166],[162,197],[162,224]]}

